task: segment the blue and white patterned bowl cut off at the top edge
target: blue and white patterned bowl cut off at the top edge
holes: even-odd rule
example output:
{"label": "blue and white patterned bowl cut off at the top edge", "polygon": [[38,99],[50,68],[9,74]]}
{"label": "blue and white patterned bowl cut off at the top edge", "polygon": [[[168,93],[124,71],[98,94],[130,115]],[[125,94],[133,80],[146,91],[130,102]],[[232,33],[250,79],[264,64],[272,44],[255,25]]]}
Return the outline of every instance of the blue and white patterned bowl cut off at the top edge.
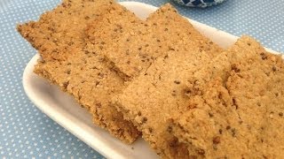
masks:
{"label": "blue and white patterned bowl cut off at the top edge", "polygon": [[173,0],[173,1],[177,2],[177,4],[182,4],[185,6],[205,8],[208,6],[220,4],[225,0]]}

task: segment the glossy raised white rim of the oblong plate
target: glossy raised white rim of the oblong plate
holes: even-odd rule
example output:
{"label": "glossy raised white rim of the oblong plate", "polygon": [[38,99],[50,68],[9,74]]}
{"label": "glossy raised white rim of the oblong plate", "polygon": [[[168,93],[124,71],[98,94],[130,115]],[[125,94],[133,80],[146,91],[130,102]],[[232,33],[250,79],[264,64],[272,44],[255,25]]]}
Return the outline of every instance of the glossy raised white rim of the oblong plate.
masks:
{"label": "glossy raised white rim of the oblong plate", "polygon": [[[123,6],[130,6],[130,5],[138,5],[140,7],[145,7],[147,10],[155,11],[157,10],[158,7],[155,7],[154,5],[151,4],[145,4],[145,3],[140,3],[140,2],[134,2],[134,1],[125,1],[125,2],[120,2],[119,4],[122,4]],[[186,17],[185,17],[186,18]],[[188,18],[186,18],[188,19]],[[204,27],[204,28],[209,28],[209,29],[215,29],[218,34],[224,34],[224,36],[232,39],[233,41],[236,41],[238,36],[235,36],[233,34],[226,33],[224,31],[218,30],[215,27],[209,27],[206,24],[202,24],[201,22],[195,21],[193,19],[188,19],[193,26],[199,26],[199,27]],[[266,48],[265,48],[266,49]],[[269,52],[272,52],[273,54],[280,54],[279,52],[273,51],[272,49],[266,49]],[[283,55],[284,57],[284,55]],[[64,111],[54,111],[51,109],[47,109],[48,107],[51,107],[50,105],[44,103],[42,99],[36,98],[36,93],[33,91],[31,88],[31,85],[28,83],[28,77],[30,76],[31,73],[34,73],[34,66],[37,63],[37,60],[40,58],[39,54],[37,53],[34,57],[31,58],[31,60],[28,62],[26,65],[23,76],[22,76],[22,85],[24,87],[24,91],[26,95],[28,96],[29,100],[36,105],[36,108],[39,110],[43,111],[43,113],[51,117],[53,121],[67,129],[69,133],[72,133],[77,137],[78,139],[82,140],[84,143],[86,143],[88,146],[91,148],[95,149],[97,152],[99,152],[100,155],[104,155],[106,158],[125,158],[124,155],[119,154],[118,152],[114,151],[113,148],[108,148],[106,147],[106,144],[104,144],[103,140],[99,140],[95,138],[93,135],[86,133],[83,129],[83,126],[78,126],[73,123],[73,120],[77,120],[75,117],[72,117],[71,115],[67,114]],[[64,114],[64,116],[62,116]],[[85,126],[86,129],[89,127]],[[80,132],[80,133],[78,133]],[[91,138],[91,140],[88,137]]]}

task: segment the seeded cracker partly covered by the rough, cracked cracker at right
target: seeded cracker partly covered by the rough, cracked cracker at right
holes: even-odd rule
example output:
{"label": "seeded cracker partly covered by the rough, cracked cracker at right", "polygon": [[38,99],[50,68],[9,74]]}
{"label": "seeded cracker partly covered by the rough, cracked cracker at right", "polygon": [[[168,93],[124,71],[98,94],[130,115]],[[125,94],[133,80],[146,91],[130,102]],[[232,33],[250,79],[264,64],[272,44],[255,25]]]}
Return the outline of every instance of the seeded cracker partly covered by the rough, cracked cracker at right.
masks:
{"label": "seeded cracker partly covered by the rough, cracked cracker at right", "polygon": [[[184,44],[195,45],[188,41]],[[186,79],[209,61],[210,56],[197,46],[184,51],[170,50],[133,79],[122,95],[114,97],[117,109],[138,126],[143,138],[162,158],[190,157],[185,144],[169,133],[167,119],[186,110],[189,104]]]}

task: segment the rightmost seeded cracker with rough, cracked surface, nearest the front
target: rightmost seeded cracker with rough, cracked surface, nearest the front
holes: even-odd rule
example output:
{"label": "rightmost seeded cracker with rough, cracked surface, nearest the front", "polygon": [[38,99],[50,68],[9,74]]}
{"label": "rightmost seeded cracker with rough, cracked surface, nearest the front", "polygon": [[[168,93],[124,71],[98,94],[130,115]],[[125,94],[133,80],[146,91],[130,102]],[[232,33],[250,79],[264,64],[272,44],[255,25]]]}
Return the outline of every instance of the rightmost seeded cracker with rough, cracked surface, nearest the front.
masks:
{"label": "rightmost seeded cracker with rough, cracked surface, nearest the front", "polygon": [[170,130],[197,158],[284,157],[284,63],[243,36],[187,81]]}

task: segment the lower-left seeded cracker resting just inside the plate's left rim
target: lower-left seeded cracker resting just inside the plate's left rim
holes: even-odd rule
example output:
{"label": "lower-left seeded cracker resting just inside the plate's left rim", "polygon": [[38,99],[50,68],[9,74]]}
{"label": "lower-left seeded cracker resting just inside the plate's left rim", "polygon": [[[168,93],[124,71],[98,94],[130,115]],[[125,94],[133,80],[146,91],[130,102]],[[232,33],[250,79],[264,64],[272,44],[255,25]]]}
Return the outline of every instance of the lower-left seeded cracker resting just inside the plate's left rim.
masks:
{"label": "lower-left seeded cracker resting just inside the plate's left rim", "polygon": [[110,105],[110,98],[124,88],[124,81],[100,57],[78,53],[67,61],[39,62],[35,72],[73,95],[90,110],[96,125],[126,143],[138,138],[136,127]]}

